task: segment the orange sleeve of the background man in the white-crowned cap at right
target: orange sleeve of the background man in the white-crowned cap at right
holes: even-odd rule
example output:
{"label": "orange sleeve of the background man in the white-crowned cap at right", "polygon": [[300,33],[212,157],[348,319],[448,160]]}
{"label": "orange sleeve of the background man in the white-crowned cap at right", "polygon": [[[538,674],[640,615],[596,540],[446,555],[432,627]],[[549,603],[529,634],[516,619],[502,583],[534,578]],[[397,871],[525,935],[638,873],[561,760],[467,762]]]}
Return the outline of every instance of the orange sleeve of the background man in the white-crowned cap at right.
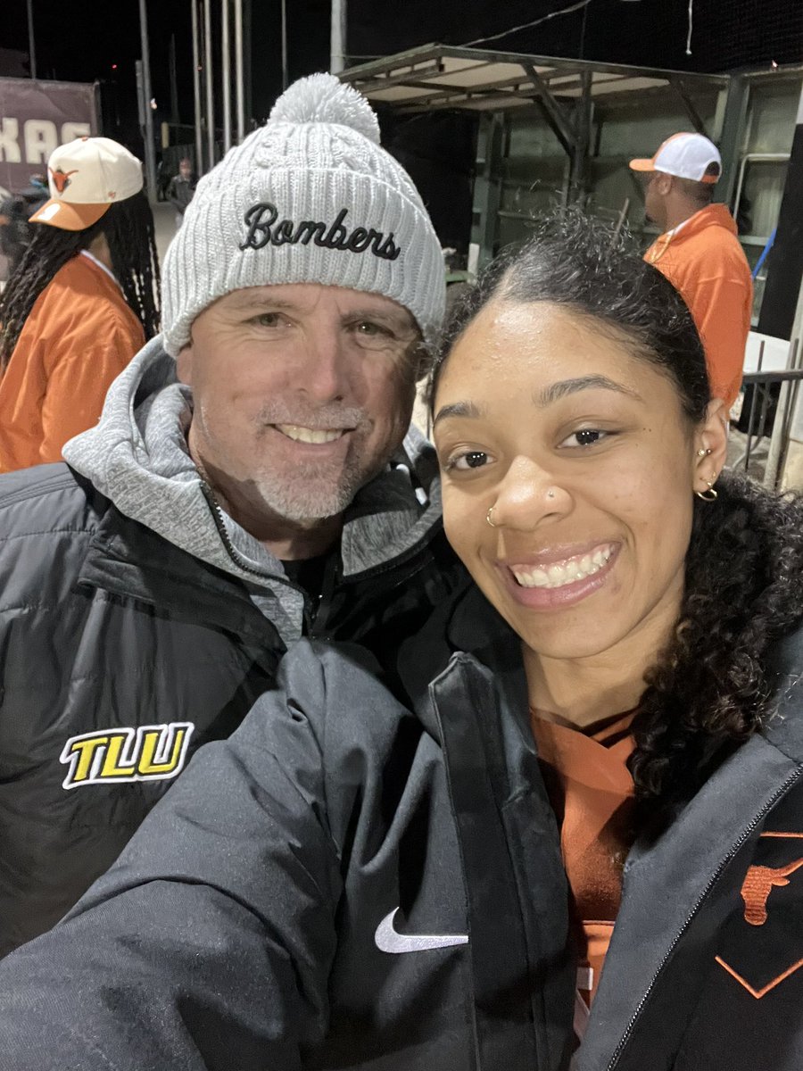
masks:
{"label": "orange sleeve of the background man in the white-crowned cap at right", "polygon": [[744,346],[749,331],[749,283],[721,275],[701,278],[695,293],[697,328],[708,361],[711,393],[730,406],[742,386]]}

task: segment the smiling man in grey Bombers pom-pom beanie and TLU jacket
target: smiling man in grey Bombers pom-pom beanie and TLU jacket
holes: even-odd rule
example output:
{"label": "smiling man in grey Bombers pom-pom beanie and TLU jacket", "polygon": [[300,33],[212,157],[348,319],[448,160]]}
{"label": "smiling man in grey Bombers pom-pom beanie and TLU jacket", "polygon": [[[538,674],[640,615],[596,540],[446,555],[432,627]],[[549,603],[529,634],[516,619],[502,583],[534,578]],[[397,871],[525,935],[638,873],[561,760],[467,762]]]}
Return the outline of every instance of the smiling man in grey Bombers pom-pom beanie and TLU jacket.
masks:
{"label": "smiling man in grey Bombers pom-pom beanie and TLU jacket", "polygon": [[456,579],[434,452],[400,449],[442,258],[378,140],[350,87],[291,87],[200,181],[164,336],[97,427],[0,479],[0,953],[108,868],[287,644],[390,663]]}

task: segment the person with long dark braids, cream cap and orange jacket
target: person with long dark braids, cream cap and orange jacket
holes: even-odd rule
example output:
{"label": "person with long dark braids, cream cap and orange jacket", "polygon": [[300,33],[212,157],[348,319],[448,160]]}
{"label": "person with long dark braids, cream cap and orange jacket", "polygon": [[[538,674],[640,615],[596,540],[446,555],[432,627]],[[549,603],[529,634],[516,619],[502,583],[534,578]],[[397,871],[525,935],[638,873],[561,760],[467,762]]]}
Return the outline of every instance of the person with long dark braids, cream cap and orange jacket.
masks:
{"label": "person with long dark braids, cream cap and orange jacket", "polygon": [[106,137],[60,146],[50,198],[0,299],[0,472],[61,461],[109,383],[158,331],[158,261],[142,166]]}

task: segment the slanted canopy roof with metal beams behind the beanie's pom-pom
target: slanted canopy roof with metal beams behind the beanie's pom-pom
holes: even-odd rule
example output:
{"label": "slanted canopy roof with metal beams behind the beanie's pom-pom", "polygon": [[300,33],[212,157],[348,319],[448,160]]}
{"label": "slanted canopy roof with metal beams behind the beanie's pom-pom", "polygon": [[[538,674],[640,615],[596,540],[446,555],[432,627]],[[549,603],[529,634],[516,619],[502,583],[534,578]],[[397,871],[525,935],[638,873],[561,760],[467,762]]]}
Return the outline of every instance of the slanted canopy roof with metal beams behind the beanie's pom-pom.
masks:
{"label": "slanted canopy roof with metal beams behind the beanie's pom-pom", "polygon": [[[493,52],[451,45],[423,45],[343,71],[350,82],[377,104],[398,111],[506,111],[540,104],[564,127],[560,101],[610,100],[619,93],[650,92],[671,87],[683,100],[690,119],[701,130],[691,101],[697,87],[726,88],[727,75],[691,74],[650,67],[556,59],[518,52]],[[560,118],[558,118],[560,117]],[[566,130],[561,129],[561,140]]]}

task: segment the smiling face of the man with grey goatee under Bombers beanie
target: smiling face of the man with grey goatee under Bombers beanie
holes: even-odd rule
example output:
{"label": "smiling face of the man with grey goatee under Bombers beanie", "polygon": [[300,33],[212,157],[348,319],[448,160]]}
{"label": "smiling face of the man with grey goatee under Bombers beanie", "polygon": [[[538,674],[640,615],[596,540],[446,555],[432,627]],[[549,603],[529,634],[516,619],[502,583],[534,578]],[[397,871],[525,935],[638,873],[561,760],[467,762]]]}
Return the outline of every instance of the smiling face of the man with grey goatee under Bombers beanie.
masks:
{"label": "smiling face of the man with grey goatee under Bombers beanie", "polygon": [[381,295],[233,290],[196,318],[178,358],[193,390],[194,461],[268,523],[336,516],[407,431],[418,337],[407,310]]}

